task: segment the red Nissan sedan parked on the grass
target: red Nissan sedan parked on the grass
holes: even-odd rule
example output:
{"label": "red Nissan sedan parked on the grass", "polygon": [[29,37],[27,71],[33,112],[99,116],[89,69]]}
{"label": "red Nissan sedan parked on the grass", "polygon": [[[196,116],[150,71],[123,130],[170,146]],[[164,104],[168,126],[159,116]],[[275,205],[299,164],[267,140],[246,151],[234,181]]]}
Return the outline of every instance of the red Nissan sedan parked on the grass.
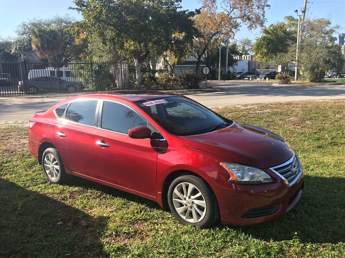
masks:
{"label": "red Nissan sedan parked on the grass", "polygon": [[87,94],[29,123],[29,150],[47,179],[69,174],[170,208],[183,224],[253,225],[285,215],[304,186],[293,148],[183,96]]}

